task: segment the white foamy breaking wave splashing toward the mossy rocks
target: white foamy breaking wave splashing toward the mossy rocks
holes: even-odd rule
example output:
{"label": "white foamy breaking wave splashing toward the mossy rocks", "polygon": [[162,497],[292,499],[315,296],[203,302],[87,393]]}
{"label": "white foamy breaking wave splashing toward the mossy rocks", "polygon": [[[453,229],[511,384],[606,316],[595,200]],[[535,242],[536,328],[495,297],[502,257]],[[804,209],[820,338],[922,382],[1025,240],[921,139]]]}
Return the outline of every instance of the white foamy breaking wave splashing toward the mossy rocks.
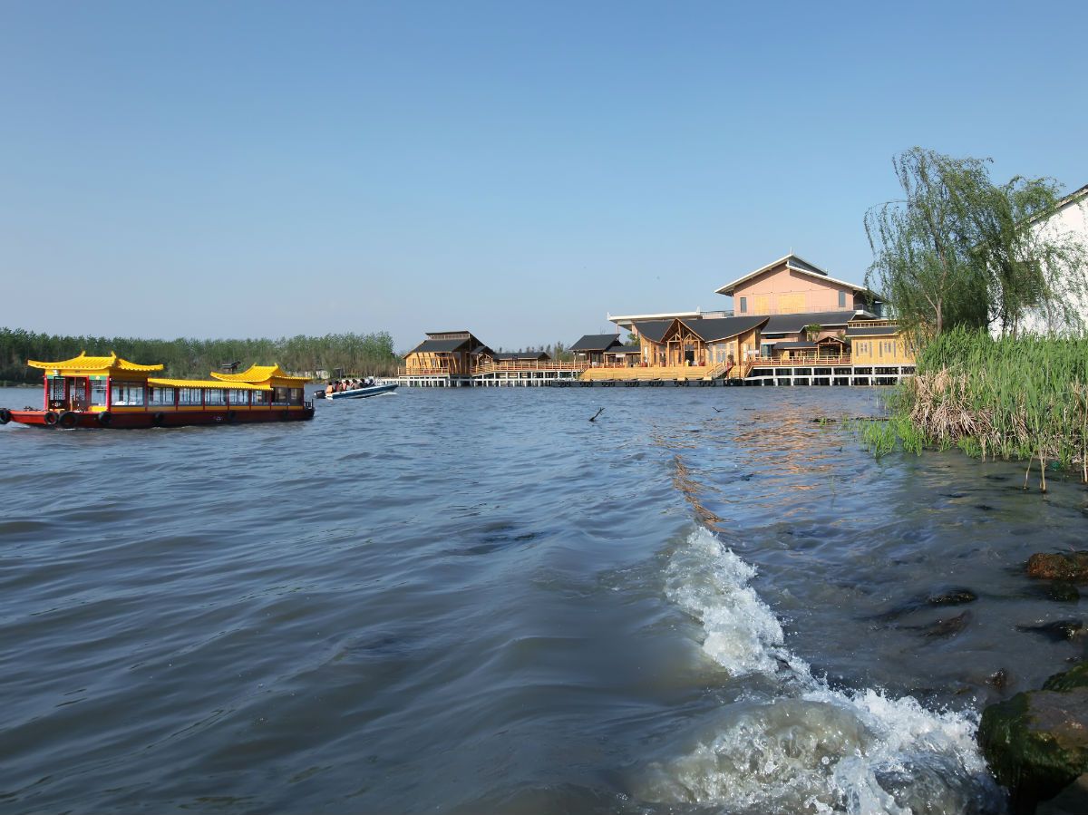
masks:
{"label": "white foamy breaking wave splashing toward the mossy rocks", "polygon": [[667,595],[702,622],[705,653],[732,679],[764,690],[667,745],[641,774],[641,800],[761,814],[1004,811],[972,714],[828,687],[786,646],[750,584],[754,575],[703,528],[672,556]]}

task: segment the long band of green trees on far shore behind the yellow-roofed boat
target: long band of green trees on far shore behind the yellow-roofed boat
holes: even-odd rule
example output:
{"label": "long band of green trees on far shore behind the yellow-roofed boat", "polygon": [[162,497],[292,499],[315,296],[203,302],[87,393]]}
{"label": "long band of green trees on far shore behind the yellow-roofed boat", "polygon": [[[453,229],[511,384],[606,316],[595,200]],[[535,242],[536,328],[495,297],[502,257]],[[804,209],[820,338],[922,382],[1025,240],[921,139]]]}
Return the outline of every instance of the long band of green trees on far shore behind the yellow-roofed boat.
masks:
{"label": "long band of green trees on far shore behind the yellow-roofed boat", "polygon": [[395,375],[401,363],[386,332],[373,334],[326,334],[279,339],[139,339],[136,337],[58,336],[22,329],[0,328],[0,382],[40,382],[41,372],[26,367],[27,359],[55,361],[78,356],[108,356],[116,353],[133,362],[162,362],[170,376],[207,376],[221,365],[277,363],[293,373],[344,375]]}

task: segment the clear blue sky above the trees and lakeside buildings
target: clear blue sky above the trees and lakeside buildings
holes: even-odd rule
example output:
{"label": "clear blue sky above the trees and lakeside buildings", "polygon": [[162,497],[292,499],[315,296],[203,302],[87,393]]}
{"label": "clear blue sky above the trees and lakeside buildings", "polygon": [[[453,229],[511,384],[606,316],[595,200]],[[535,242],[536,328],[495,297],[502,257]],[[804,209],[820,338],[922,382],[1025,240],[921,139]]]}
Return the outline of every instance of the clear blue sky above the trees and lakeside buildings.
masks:
{"label": "clear blue sky above the trees and lakeside buildings", "polygon": [[913,145],[1088,184],[1088,3],[0,0],[0,325],[471,329],[861,282]]}

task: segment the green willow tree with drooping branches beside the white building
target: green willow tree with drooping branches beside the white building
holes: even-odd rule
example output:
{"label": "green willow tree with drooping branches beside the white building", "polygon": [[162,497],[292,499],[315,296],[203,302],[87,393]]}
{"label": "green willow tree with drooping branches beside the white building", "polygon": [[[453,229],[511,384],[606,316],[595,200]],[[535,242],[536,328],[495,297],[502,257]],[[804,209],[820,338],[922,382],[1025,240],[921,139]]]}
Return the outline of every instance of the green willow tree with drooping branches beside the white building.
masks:
{"label": "green willow tree with drooping branches beside the white building", "polygon": [[990,180],[989,159],[956,159],[920,147],[892,160],[904,197],[873,207],[866,285],[922,334],[998,325],[1015,333],[1028,314],[1061,312],[1086,286],[1075,236],[1040,229],[1059,205],[1049,178]]}

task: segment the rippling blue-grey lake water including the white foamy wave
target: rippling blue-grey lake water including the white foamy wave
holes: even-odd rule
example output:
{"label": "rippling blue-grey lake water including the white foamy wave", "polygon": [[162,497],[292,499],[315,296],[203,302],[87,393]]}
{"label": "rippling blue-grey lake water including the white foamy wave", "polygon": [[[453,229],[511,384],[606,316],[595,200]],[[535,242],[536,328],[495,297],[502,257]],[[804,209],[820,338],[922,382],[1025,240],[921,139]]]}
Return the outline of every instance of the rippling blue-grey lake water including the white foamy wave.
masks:
{"label": "rippling blue-grey lake water including the white foamy wave", "polygon": [[978,712],[1084,653],[1022,565],[1086,491],[813,421],[878,395],[2,427],[0,810],[1003,812]]}

